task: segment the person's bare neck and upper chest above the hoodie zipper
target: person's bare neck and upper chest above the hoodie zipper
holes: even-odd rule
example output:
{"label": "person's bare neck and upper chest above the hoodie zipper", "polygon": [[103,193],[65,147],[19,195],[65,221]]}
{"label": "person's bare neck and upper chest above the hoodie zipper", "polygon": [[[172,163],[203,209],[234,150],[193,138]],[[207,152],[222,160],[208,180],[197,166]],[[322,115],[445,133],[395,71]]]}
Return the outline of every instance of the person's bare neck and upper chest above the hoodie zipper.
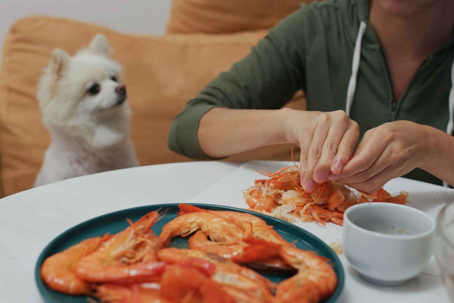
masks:
{"label": "person's bare neck and upper chest above the hoodie zipper", "polygon": [[439,49],[454,27],[453,6],[449,1],[434,1],[410,16],[393,15],[370,0],[370,24],[388,55],[425,59]]}

